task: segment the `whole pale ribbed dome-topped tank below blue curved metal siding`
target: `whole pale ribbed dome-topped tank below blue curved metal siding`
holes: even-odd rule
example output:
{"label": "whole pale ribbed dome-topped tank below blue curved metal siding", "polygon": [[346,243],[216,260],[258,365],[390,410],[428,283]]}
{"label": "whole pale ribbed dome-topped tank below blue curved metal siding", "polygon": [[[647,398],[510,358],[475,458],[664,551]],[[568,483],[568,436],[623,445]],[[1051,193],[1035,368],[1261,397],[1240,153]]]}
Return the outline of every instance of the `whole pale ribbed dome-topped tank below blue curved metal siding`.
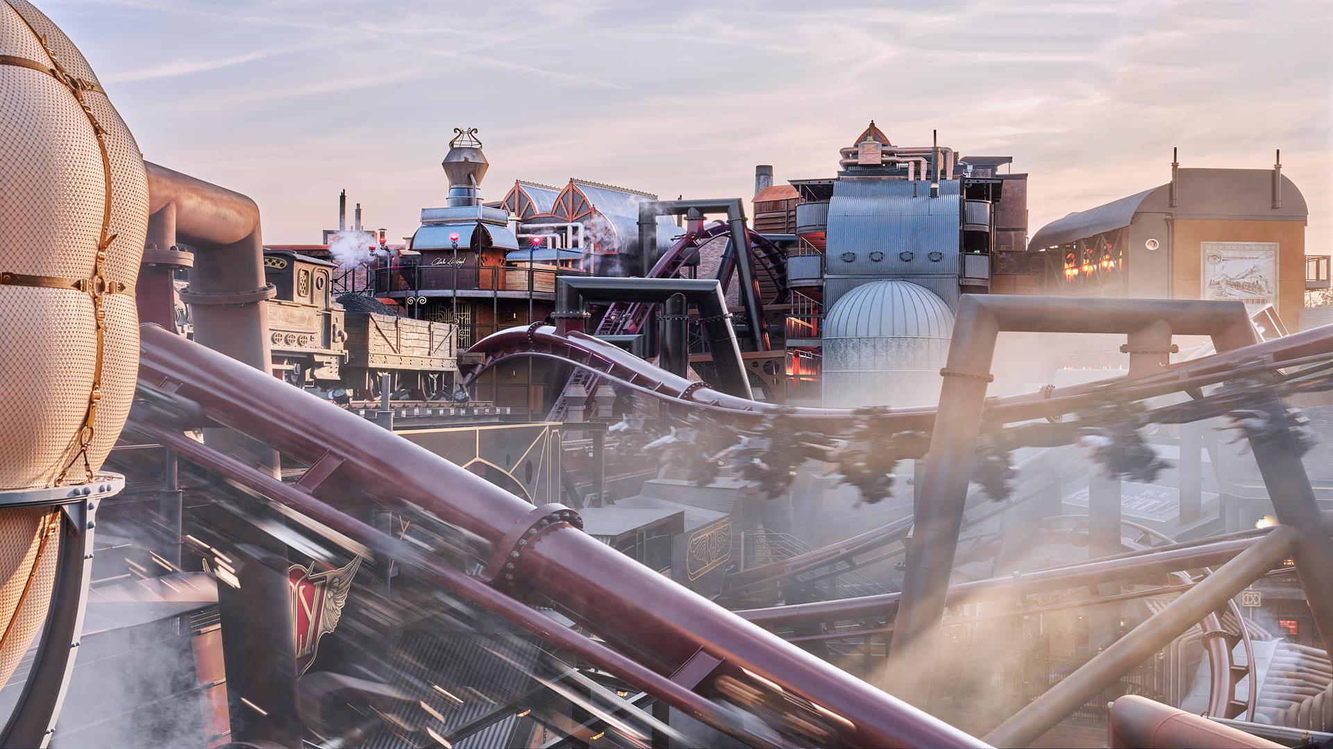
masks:
{"label": "whole pale ribbed dome-topped tank below blue curved metal siding", "polygon": [[933,405],[953,312],[930,291],[882,280],[842,295],[824,316],[824,405]]}

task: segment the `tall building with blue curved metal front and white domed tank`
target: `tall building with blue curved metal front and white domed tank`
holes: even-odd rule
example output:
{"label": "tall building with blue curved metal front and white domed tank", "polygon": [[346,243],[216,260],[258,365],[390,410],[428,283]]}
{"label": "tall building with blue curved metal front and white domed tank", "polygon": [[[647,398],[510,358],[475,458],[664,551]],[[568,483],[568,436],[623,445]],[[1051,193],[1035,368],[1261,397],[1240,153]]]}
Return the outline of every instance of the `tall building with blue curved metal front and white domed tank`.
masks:
{"label": "tall building with blue curved metal front and white domed tank", "polygon": [[[993,284],[1037,293],[1024,252],[1028,176],[1001,173],[1010,163],[894,145],[870,121],[840,151],[832,179],[792,180],[792,192],[770,187],[772,168],[758,167],[756,227],[762,215],[765,229],[798,240],[784,320],[789,398],[933,402],[960,296]],[[889,361],[894,374],[881,367]]]}

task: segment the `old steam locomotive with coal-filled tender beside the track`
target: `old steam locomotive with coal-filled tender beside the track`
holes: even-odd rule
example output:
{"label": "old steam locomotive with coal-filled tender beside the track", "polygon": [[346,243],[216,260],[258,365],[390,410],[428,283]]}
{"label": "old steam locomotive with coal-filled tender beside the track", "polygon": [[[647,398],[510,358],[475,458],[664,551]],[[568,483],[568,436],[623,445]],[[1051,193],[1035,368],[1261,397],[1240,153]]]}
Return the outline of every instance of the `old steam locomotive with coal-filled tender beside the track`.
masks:
{"label": "old steam locomotive with coal-filled tender beside the track", "polygon": [[337,265],[287,251],[264,253],[277,289],[268,305],[273,374],[339,402],[371,401],[388,380],[392,400],[453,397],[457,328],[412,320],[364,295],[336,296]]}

